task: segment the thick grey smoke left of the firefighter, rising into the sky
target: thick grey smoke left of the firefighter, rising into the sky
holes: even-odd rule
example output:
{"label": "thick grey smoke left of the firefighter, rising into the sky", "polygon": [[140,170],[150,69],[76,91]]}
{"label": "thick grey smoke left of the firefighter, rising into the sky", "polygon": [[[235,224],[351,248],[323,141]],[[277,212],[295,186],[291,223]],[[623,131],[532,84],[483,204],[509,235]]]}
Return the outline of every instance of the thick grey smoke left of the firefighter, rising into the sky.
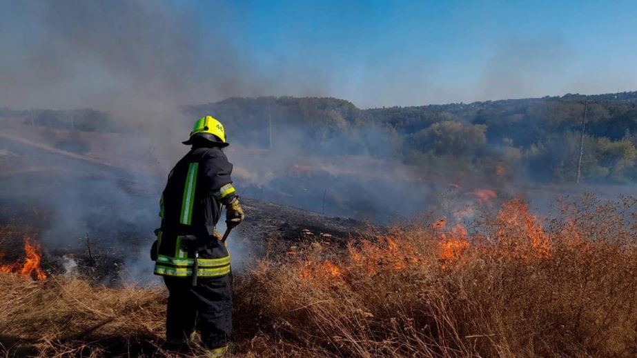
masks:
{"label": "thick grey smoke left of the firefighter, rising into the sky", "polygon": [[[34,223],[46,247],[84,248],[88,232],[95,255],[123,262],[121,276],[142,284],[156,281],[148,278],[147,247],[159,225],[157,200],[193,122],[179,106],[280,90],[322,92],[324,81],[297,83],[286,70],[259,73],[251,54],[226,36],[224,26],[236,30],[241,19],[219,3],[208,3],[202,14],[172,1],[2,2],[0,14],[0,105],[92,108],[126,132],[117,141],[71,134],[64,140],[83,141],[76,146],[86,151],[82,160],[47,149],[52,137],[68,137],[64,131],[34,128],[22,141],[5,138],[2,145],[17,153],[11,166],[44,168],[48,180],[27,173],[5,178],[3,201],[50,213]],[[48,126],[46,119],[42,124]],[[302,145],[297,139],[295,146]],[[95,155],[117,166],[100,166]],[[251,250],[233,236],[233,265],[241,268]]]}

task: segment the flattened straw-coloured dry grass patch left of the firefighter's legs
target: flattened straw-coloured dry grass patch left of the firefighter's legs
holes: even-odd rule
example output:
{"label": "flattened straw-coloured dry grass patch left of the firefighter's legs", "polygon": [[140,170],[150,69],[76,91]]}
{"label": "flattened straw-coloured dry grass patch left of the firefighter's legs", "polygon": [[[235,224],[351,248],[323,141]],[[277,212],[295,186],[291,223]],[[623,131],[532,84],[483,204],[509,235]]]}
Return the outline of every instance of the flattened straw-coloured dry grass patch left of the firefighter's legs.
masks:
{"label": "flattened straw-coloured dry grass patch left of the firefighter's legs", "polygon": [[6,274],[0,275],[0,287],[0,342],[12,355],[137,355],[154,352],[163,330],[165,301],[159,290]]}

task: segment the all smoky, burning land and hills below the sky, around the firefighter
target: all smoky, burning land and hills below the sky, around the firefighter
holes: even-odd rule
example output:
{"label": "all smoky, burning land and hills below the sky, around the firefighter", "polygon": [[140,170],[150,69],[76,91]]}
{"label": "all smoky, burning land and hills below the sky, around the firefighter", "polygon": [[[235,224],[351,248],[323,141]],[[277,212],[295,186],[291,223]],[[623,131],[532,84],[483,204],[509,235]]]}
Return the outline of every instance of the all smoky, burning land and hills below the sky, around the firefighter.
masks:
{"label": "all smoky, burning land and hills below the sky, around the firefighter", "polygon": [[[228,244],[232,354],[634,355],[635,199],[578,195],[631,192],[611,183],[632,181],[609,179],[631,178],[631,136],[596,128],[611,128],[603,118],[631,128],[635,102],[589,99],[585,183],[572,186],[580,100],[360,110],[261,98],[200,108],[237,126],[227,152],[247,219]],[[165,175],[157,156],[138,133],[42,113],[56,113],[55,125],[20,112],[0,120],[0,353],[164,355],[166,292],[148,260]],[[529,127],[516,132],[521,123]],[[498,128],[511,137],[503,144]],[[550,171],[556,163],[566,176]]]}

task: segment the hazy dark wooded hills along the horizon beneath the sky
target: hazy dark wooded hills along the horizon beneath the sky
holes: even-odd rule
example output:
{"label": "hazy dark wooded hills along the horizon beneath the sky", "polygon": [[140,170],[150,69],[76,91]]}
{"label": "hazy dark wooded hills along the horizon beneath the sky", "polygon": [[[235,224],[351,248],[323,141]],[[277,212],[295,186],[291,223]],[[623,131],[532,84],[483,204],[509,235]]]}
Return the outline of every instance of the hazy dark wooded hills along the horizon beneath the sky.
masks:
{"label": "hazy dark wooded hills along the horizon beneath the sky", "polygon": [[[221,119],[246,146],[315,155],[370,155],[422,167],[493,172],[498,166],[540,181],[576,179],[584,102],[582,181],[637,182],[637,92],[360,109],[317,97],[229,98],[182,106],[187,117]],[[95,110],[15,111],[41,126],[121,131]]]}

